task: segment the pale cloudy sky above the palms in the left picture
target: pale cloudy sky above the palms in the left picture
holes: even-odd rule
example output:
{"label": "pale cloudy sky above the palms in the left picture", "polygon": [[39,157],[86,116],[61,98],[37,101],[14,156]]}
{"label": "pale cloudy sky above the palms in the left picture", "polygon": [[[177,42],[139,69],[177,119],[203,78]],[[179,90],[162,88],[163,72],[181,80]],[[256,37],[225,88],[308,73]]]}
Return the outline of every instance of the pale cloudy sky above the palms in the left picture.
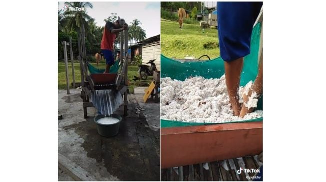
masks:
{"label": "pale cloudy sky above the palms in the left picture", "polygon": [[[160,2],[91,2],[93,8],[87,8],[86,12],[95,19],[97,26],[104,26],[106,19],[112,12],[124,18],[130,25],[131,21],[138,19],[140,25],[146,31],[146,38],[160,34]],[[59,2],[59,9],[64,2]]]}

